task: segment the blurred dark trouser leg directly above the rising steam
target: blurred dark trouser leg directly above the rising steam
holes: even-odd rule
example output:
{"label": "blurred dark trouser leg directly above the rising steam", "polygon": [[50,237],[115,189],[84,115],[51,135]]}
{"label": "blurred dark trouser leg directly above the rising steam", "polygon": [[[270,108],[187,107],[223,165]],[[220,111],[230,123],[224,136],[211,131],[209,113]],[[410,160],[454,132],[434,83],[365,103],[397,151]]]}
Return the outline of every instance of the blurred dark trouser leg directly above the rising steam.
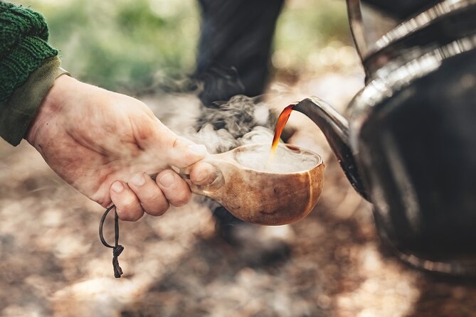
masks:
{"label": "blurred dark trouser leg directly above the rising steam", "polygon": [[206,107],[234,95],[254,97],[268,80],[277,17],[284,0],[199,0],[201,37],[195,77]]}

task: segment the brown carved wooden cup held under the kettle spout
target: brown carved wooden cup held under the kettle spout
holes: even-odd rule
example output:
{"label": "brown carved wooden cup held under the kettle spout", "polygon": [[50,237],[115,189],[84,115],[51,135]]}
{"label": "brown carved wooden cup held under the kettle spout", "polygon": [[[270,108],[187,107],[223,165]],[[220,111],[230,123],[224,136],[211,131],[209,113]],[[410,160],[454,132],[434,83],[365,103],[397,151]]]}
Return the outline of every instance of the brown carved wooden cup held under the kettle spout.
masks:
{"label": "brown carved wooden cup held under the kettle spout", "polygon": [[[306,171],[273,173],[257,171],[240,165],[235,159],[240,151],[253,151],[269,144],[250,144],[213,154],[204,161],[216,167],[213,183],[197,186],[186,179],[193,193],[216,200],[230,213],[246,222],[259,225],[285,225],[302,219],[319,200],[324,183],[324,163],[319,155],[306,149],[286,144],[290,151],[311,155],[315,165]],[[276,158],[279,159],[279,158]]]}

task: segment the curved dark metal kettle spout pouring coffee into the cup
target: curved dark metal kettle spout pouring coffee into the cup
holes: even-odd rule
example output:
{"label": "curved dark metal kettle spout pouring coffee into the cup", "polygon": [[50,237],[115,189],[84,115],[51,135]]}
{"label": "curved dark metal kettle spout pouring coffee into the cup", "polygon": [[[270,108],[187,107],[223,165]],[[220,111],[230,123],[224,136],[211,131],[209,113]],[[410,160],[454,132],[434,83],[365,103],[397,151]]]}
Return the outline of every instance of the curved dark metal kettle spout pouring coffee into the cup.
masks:
{"label": "curved dark metal kettle spout pouring coffee into the cup", "polygon": [[364,188],[359,171],[349,144],[349,122],[327,102],[317,97],[310,97],[298,102],[293,110],[302,112],[317,124],[337,156],[340,166],[344,170],[352,187],[363,198],[370,201],[369,193]]}

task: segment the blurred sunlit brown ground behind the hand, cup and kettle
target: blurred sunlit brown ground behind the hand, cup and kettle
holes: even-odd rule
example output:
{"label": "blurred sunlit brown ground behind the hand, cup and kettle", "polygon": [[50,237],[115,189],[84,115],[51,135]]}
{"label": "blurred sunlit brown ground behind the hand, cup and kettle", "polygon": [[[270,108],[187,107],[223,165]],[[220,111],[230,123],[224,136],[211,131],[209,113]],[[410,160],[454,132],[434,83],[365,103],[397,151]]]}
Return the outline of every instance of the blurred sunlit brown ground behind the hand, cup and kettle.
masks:
{"label": "blurred sunlit brown ground behind the hand, cup and kettle", "polygon": [[[342,109],[361,80],[334,74],[298,82],[280,95],[282,105],[312,92]],[[174,117],[187,117],[182,125],[193,119],[163,106],[190,97],[144,100],[172,126]],[[289,257],[266,259],[259,247],[228,245],[215,235],[207,205],[194,199],[162,217],[121,222],[121,279],[112,276],[112,252],[98,239],[102,208],[55,176],[25,142],[2,142],[0,315],[476,316],[476,284],[428,276],[380,246],[371,205],[350,188],[322,136],[308,129],[326,180],[316,208],[290,225]],[[111,239],[112,222],[105,235]]]}

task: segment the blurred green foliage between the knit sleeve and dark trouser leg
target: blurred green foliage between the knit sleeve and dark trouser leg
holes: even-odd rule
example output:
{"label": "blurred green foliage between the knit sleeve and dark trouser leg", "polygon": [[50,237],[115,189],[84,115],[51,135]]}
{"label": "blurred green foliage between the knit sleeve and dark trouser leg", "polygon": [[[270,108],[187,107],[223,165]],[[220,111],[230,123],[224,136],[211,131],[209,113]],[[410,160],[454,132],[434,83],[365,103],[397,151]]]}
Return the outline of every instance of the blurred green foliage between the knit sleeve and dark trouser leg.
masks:
{"label": "blurred green foliage between the knit sleeve and dark trouser leg", "polygon": [[[26,1],[21,1],[25,5]],[[63,68],[113,90],[151,85],[158,71],[194,69],[196,1],[30,1],[50,28]]]}

